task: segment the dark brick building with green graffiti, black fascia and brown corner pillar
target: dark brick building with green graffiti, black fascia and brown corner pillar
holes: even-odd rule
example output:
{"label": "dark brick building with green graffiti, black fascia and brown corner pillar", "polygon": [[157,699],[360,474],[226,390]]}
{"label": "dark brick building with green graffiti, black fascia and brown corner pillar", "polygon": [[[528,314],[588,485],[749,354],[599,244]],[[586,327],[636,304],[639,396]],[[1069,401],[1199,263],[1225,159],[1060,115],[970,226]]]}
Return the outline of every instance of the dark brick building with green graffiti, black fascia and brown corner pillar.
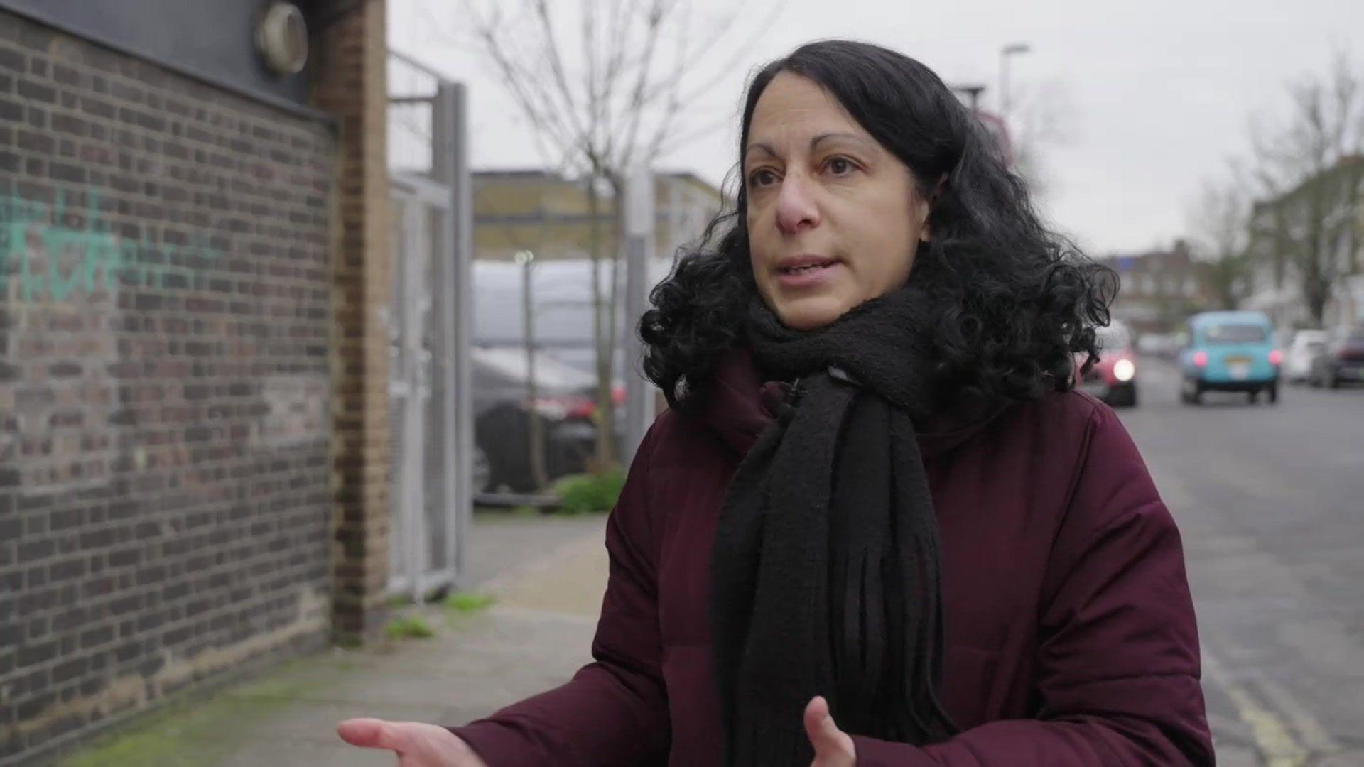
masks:
{"label": "dark brick building with green graffiti, black fascia and brown corner pillar", "polygon": [[383,621],[385,3],[276,5],[0,0],[0,764]]}

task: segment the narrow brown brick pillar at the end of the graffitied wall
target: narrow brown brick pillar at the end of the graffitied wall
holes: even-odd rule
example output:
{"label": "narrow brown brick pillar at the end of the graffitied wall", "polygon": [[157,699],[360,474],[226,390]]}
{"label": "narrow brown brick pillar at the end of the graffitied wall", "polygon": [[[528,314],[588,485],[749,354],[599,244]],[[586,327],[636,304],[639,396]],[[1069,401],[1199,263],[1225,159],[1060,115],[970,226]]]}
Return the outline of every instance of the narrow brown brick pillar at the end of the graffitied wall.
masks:
{"label": "narrow brown brick pillar at the end of the graffitied wall", "polygon": [[314,101],[338,123],[336,283],[336,549],[333,628],[342,643],[379,636],[387,617],[389,307],[393,220],[387,169],[387,34],[383,0],[327,27]]}

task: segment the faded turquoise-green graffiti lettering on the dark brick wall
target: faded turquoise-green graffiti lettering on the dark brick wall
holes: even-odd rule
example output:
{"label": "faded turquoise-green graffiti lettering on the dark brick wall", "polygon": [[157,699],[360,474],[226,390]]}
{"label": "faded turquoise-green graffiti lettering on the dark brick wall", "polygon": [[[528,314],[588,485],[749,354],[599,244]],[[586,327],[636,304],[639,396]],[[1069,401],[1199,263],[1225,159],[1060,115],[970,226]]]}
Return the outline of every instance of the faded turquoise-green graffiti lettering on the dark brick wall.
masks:
{"label": "faded turquoise-green graffiti lettering on the dark brick wall", "polygon": [[[202,236],[188,246],[154,243],[146,227],[136,239],[119,236],[98,217],[98,194],[87,194],[83,222],[71,228],[63,192],[52,206],[19,197],[0,199],[0,295],[10,295],[11,276],[18,277],[23,302],[61,302],[78,292],[93,293],[101,284],[105,291],[120,284],[164,288],[172,276],[192,284],[203,262],[222,255]],[[41,265],[34,263],[35,250]],[[65,273],[63,262],[70,265]]]}

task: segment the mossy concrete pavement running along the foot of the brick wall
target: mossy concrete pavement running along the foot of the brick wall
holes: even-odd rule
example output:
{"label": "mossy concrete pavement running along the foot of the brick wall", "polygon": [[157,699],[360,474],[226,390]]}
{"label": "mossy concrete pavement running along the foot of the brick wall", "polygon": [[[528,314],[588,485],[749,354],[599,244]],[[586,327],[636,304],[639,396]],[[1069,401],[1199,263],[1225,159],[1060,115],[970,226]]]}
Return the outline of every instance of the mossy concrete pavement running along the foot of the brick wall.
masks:
{"label": "mossy concrete pavement running along the foot of the brick wall", "polygon": [[349,717],[464,723],[562,684],[588,661],[606,587],[604,517],[480,520],[476,588],[496,602],[464,614],[413,610],[432,639],[300,658],[173,707],[61,762],[68,767],[391,767],[390,752],[341,742]]}

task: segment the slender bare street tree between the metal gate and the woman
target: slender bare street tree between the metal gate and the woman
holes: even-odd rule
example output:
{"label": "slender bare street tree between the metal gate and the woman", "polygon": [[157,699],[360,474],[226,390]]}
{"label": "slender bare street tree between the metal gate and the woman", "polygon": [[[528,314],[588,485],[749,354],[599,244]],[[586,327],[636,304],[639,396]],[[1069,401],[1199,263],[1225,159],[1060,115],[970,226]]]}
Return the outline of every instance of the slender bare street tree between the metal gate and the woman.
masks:
{"label": "slender bare street tree between the metal gate and the woman", "polygon": [[[615,461],[611,382],[625,179],[634,164],[652,164],[696,138],[682,132],[683,105],[727,75],[746,46],[732,45],[728,57],[713,56],[735,33],[737,12],[698,20],[685,0],[581,0],[554,11],[547,0],[488,5],[464,1],[462,20],[473,42],[529,121],[546,160],[585,183],[597,360],[596,463],[604,468]],[[602,231],[607,202],[612,247]]]}

